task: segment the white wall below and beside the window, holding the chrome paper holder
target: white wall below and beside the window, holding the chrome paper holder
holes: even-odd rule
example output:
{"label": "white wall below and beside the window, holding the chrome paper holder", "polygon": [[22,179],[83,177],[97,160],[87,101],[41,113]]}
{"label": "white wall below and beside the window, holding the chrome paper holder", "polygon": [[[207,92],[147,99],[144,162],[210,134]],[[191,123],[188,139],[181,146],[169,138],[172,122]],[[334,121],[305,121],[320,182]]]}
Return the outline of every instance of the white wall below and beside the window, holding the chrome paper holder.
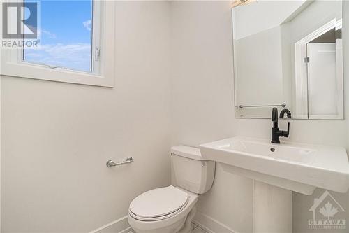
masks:
{"label": "white wall below and beside the window, holding the chrome paper holder", "polygon": [[117,2],[114,89],[1,77],[1,232],[88,232],[170,183],[169,15]]}

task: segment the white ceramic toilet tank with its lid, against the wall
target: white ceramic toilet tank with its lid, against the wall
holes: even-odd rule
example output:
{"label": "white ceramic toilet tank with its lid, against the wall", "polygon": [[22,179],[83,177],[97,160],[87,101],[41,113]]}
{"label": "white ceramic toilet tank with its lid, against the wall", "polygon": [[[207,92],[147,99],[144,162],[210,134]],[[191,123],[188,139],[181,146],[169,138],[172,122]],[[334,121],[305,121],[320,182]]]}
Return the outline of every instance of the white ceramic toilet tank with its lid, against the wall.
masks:
{"label": "white ceramic toilet tank with its lid, against the wall", "polygon": [[216,164],[204,159],[199,148],[172,146],[171,162],[174,179],[179,187],[197,194],[211,189]]}

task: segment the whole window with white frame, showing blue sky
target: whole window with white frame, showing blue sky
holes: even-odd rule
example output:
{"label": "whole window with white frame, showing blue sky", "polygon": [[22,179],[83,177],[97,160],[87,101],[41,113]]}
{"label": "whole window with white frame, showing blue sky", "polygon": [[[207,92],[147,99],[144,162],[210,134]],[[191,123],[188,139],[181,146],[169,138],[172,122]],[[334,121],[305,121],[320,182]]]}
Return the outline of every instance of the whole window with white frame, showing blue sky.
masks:
{"label": "whole window with white frame, showing blue sky", "polygon": [[34,28],[26,7],[32,2],[38,3],[38,46],[3,50],[1,74],[112,87],[114,2],[23,0],[23,31]]}

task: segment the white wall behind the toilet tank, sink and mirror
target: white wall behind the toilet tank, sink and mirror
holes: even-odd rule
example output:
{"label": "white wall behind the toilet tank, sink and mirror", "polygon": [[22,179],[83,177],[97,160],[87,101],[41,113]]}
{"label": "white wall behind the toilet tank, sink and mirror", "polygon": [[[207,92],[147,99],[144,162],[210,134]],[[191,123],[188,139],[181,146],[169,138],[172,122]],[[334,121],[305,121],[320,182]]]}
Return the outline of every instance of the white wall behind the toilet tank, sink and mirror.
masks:
{"label": "white wall behind the toilet tank, sink and mirror", "polygon": [[[346,2],[346,12],[349,2]],[[181,1],[172,3],[172,144],[200,143],[229,136],[270,138],[270,120],[236,119],[233,111],[232,35],[229,1]],[[344,24],[349,24],[344,14]],[[343,31],[349,37],[349,27]],[[349,41],[345,40],[345,48]],[[344,73],[349,72],[344,52]],[[345,90],[349,90],[346,82]],[[348,99],[348,93],[345,99]],[[346,101],[346,118],[349,101]],[[292,120],[290,138],[306,143],[326,143],[346,146],[349,120]],[[281,122],[281,129],[286,121]],[[330,155],[329,155],[330,156]],[[330,157],[329,157],[330,159]],[[225,174],[218,165],[214,187],[200,197],[198,210],[237,232],[251,232],[252,183],[240,177]],[[336,194],[343,203],[348,195]],[[306,232],[311,203],[304,195],[294,194],[294,232]],[[245,208],[244,208],[245,207]]]}

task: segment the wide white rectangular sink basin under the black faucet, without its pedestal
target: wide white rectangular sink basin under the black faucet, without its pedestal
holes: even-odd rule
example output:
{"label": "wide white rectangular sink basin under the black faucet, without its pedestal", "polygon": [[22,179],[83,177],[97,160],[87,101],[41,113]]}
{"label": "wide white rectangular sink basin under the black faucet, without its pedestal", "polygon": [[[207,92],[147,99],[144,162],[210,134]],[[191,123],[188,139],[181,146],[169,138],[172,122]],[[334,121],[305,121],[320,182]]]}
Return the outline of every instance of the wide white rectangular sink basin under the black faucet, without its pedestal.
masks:
{"label": "wide white rectangular sink basin under the black faucet, without its pedestal", "polygon": [[295,192],[315,188],[349,189],[349,162],[339,146],[303,143],[272,144],[268,139],[236,136],[200,145],[202,156],[221,162],[225,171]]}

